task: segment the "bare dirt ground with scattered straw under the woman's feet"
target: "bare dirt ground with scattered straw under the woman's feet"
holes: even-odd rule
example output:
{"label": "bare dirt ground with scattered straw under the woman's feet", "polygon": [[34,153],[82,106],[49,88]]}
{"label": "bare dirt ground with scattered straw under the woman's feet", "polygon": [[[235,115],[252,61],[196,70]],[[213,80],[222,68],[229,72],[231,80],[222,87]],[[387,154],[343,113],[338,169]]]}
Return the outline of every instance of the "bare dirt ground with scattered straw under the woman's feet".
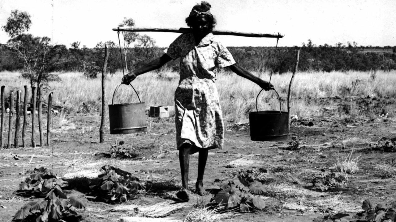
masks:
{"label": "bare dirt ground with scattered straw under the woman's feet", "polygon": [[[313,126],[307,125],[309,121],[312,121]],[[329,211],[360,212],[365,199],[375,203],[390,203],[396,198],[394,177],[384,177],[383,172],[375,167],[377,164],[395,165],[396,153],[377,149],[381,138],[395,137],[394,121],[385,121],[380,116],[361,116],[351,120],[346,115],[299,119],[291,124],[288,139],[271,142],[251,141],[248,120],[245,122],[238,125],[227,123],[224,149],[209,152],[204,188],[211,194],[201,197],[192,192],[188,203],[164,214],[162,221],[166,221],[166,218],[169,221],[183,221],[192,209],[210,203],[213,191],[219,189],[222,182],[231,179],[239,169],[251,167],[267,170],[266,184],[272,187],[272,193],[268,188],[268,195],[263,196],[267,207],[263,211],[237,213],[223,221],[312,221],[328,215]],[[100,167],[109,164],[131,172],[147,187],[147,184],[156,184],[156,187],[147,188],[147,192],[121,205],[150,207],[159,203],[174,203],[171,196],[181,186],[174,119],[147,117],[147,123],[148,132],[125,135],[110,135],[107,132],[105,142],[99,143],[99,116],[66,116],[62,126],[53,130],[51,146],[2,149],[1,221],[11,221],[16,211],[33,199],[13,193],[27,177],[27,170],[41,166],[53,169],[58,177],[70,181],[74,177],[94,180]],[[138,156],[119,159],[100,154],[109,152],[111,146],[120,141],[133,147]],[[312,189],[312,178],[337,171],[334,167],[337,160],[357,160],[358,170],[349,173],[348,181],[338,190],[323,192]],[[190,160],[192,190],[197,163],[198,155],[193,154]],[[89,184],[85,185],[87,188]],[[70,186],[63,188],[65,192],[78,196],[87,205],[85,211],[78,211],[84,221],[111,222],[136,216],[133,210],[114,210],[119,204],[91,201],[82,184]],[[146,219],[151,221],[148,217]]]}

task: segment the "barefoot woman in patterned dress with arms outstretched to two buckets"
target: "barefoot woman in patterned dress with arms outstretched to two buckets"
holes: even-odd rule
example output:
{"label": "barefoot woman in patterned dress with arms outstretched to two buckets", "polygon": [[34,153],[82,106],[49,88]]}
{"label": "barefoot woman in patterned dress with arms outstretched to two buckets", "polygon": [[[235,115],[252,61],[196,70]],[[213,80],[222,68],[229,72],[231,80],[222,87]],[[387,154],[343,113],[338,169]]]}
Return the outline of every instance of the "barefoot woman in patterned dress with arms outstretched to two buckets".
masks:
{"label": "barefoot woman in patterned dress with arms outstretched to two buckets", "polygon": [[211,31],[215,19],[210,13],[211,5],[201,2],[192,8],[186,23],[192,32],[181,34],[169,45],[164,55],[145,66],[128,73],[122,83],[129,84],[138,75],[156,70],[172,59],[180,58],[180,80],[175,92],[176,141],[183,188],[177,198],[188,201],[189,155],[198,156],[198,178],[196,193],[204,195],[202,187],[208,150],[221,149],[224,138],[224,124],[215,85],[215,73],[218,68],[230,68],[237,75],[245,77],[265,90],[273,88],[267,81],[253,76],[240,67],[232,55]]}

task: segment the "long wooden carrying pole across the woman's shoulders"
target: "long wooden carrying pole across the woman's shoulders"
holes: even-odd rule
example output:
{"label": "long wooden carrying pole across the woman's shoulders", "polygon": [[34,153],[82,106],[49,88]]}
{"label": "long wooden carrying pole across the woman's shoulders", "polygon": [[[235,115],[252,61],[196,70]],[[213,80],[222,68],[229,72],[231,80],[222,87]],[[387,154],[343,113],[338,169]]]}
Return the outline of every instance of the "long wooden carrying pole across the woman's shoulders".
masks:
{"label": "long wooden carrying pole across the woman's shoulders", "polygon": [[[175,32],[175,33],[187,33],[191,32],[191,28],[151,28],[151,27],[136,27],[136,26],[122,26],[113,28],[113,31],[120,32]],[[282,38],[284,35],[268,34],[268,33],[249,33],[249,32],[234,32],[228,30],[213,30],[214,35],[225,35],[225,36],[245,36],[245,37],[257,37],[257,38]]]}

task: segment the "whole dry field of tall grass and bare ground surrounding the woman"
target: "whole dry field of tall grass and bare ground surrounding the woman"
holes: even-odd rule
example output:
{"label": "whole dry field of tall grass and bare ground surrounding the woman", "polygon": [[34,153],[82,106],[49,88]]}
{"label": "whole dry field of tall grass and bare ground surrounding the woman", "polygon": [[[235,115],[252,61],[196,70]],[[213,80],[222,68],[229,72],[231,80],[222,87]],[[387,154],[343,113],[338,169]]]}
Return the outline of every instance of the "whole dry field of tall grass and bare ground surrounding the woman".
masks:
{"label": "whole dry field of tall grass and bare ground surrounding the woman", "polygon": [[[269,79],[268,73],[254,74]],[[219,72],[216,83],[226,120],[225,147],[209,152],[204,177],[209,194],[201,197],[192,192],[187,203],[172,199],[181,187],[173,117],[147,117],[148,131],[137,134],[110,135],[107,124],[105,142],[99,143],[101,80],[86,79],[82,73],[59,76],[61,81],[48,87],[59,111],[53,114],[51,145],[30,147],[29,120],[27,147],[1,149],[2,221],[11,221],[30,201],[44,200],[16,193],[29,176],[26,172],[42,166],[67,182],[62,190],[85,203],[85,209],[76,212],[91,222],[322,222],[336,220],[337,213],[348,214],[344,221],[356,221],[366,199],[396,208],[396,71],[297,73],[290,101],[293,120],[289,137],[283,141],[250,140],[248,114],[256,109],[260,88],[237,75]],[[290,77],[291,73],[275,74],[271,80],[280,94],[282,110],[286,110]],[[117,72],[107,79],[109,103],[121,78],[122,73]],[[27,83],[19,73],[0,73],[6,95],[10,90],[23,90]],[[147,73],[132,83],[147,109],[173,105],[177,73]],[[120,87],[114,103],[125,102],[137,102],[126,85]],[[276,94],[263,91],[258,109],[279,109]],[[8,115],[5,122],[8,129]],[[8,130],[4,132],[7,136]],[[38,133],[35,139],[39,144]],[[119,158],[114,155],[117,149],[133,155]],[[197,163],[194,154],[191,188]],[[94,201],[89,186],[98,182],[99,169],[105,165],[130,172],[145,189],[124,203]],[[258,196],[266,207],[249,213],[218,213],[212,198],[219,186],[247,171],[265,185],[265,192]],[[382,219],[379,221],[388,221]]]}

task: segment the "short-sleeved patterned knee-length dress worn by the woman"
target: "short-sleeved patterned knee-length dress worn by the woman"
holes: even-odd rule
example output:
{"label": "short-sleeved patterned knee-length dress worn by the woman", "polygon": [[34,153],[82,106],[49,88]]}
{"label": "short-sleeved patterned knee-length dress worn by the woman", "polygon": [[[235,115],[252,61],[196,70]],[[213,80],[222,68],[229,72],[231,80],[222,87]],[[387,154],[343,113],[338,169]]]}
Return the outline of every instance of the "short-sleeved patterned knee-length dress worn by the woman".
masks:
{"label": "short-sleeved patterned knee-length dress worn by the woman", "polygon": [[166,54],[180,58],[180,81],[175,92],[177,149],[184,143],[221,149],[224,123],[214,70],[235,64],[234,58],[212,33],[198,45],[192,33],[181,34]]}

